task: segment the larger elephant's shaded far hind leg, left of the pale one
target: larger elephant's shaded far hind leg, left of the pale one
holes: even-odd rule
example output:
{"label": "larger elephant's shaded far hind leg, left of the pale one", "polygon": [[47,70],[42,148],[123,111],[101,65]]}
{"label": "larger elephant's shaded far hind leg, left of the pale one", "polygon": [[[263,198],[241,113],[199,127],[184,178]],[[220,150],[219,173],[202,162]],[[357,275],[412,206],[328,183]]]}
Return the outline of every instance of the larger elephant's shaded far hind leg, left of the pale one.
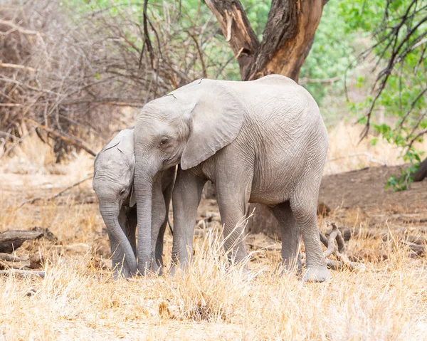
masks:
{"label": "larger elephant's shaded far hind leg, left of the pale one", "polygon": [[298,272],[300,272],[302,270],[302,263],[298,254],[300,229],[290,209],[290,202],[285,201],[270,208],[270,210],[273,212],[275,218],[278,219],[280,226],[284,269],[288,271],[297,268]]}

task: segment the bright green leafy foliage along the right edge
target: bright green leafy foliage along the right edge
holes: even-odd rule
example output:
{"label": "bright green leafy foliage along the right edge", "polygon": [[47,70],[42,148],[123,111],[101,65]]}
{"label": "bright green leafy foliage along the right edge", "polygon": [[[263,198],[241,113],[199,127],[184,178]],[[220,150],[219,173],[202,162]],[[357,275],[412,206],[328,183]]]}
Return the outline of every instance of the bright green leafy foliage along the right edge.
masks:
{"label": "bright green leafy foliage along the right edge", "polygon": [[[376,135],[405,150],[402,159],[410,165],[401,177],[391,177],[387,187],[406,189],[423,154],[413,143],[422,140],[419,132],[427,127],[426,3],[354,0],[342,1],[339,9],[349,22],[347,32],[369,34],[372,47],[357,61],[371,65],[376,76],[371,95],[362,103],[350,103],[350,108],[360,123],[369,124]],[[357,79],[357,86],[363,83]],[[376,115],[381,110],[385,118]]]}

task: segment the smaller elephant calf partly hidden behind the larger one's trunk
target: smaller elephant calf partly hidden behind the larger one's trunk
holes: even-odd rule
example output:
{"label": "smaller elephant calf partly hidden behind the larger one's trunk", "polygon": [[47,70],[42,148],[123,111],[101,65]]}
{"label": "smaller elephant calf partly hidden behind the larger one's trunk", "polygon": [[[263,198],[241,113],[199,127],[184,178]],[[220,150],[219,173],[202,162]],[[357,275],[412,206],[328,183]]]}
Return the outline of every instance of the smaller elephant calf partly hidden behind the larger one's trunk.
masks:
{"label": "smaller elephant calf partly hidden behind the larger one's trunk", "polygon": [[[100,204],[100,212],[107,226],[115,278],[129,278],[137,273],[136,227],[137,207],[133,188],[135,169],[134,128],[119,132],[95,158],[93,189]],[[167,225],[167,211],[172,196],[174,169],[162,174],[162,223],[149,238],[155,238],[153,270],[162,272],[163,237]]]}

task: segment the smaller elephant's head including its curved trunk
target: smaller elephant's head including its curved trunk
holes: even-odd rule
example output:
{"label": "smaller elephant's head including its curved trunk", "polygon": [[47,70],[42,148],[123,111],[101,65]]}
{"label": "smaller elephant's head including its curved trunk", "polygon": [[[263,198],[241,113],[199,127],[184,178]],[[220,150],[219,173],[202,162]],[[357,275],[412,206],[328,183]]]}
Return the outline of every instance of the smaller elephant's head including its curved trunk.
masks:
{"label": "smaller elephant's head including its curved trunk", "polygon": [[122,130],[95,158],[93,189],[97,195],[100,213],[109,233],[119,242],[131,273],[137,271],[137,261],[130,241],[120,227],[121,207],[135,205],[132,200],[135,170],[134,129]]}

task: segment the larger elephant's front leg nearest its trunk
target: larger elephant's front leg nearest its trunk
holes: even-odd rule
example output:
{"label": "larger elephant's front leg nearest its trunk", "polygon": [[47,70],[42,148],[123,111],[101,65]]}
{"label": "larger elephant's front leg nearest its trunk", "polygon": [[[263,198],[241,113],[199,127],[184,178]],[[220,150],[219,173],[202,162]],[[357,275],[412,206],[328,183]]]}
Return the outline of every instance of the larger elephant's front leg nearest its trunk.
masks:
{"label": "larger elephant's front leg nearest its trunk", "polygon": [[176,174],[172,204],[174,207],[174,241],[172,246],[172,274],[179,264],[185,268],[189,263],[189,253],[193,248],[194,226],[197,218],[201,191],[206,180],[194,176],[180,167]]}

